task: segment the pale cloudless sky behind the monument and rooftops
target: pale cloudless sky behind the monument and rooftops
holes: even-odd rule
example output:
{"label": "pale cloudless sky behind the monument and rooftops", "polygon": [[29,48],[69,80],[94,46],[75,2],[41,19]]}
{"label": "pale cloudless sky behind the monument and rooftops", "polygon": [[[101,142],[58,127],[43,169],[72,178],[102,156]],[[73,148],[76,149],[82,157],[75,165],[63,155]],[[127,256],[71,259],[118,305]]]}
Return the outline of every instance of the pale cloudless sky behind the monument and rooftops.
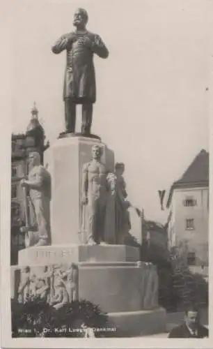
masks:
{"label": "pale cloudless sky behind the monument and rooftops", "polygon": [[[92,132],[125,163],[129,200],[145,218],[166,222],[158,190],[168,190],[201,149],[208,150],[210,47],[202,0],[19,0],[11,8],[12,131],[23,132],[36,101],[47,139],[63,131],[65,52],[77,7],[109,58],[95,57]],[[78,128],[81,116],[78,115]],[[131,213],[133,230],[139,219]],[[137,233],[136,233],[137,234]]]}

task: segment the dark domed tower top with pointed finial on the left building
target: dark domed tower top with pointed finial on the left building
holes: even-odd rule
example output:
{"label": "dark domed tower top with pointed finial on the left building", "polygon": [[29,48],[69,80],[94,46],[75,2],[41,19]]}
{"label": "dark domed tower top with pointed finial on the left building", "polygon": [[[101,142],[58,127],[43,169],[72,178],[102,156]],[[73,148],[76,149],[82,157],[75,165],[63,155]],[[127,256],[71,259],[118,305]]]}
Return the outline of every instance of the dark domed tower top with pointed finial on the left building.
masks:
{"label": "dark domed tower top with pointed finial on the left building", "polygon": [[45,131],[38,120],[38,109],[34,102],[31,110],[31,120],[26,128],[26,148],[29,151],[38,151],[43,160],[43,152],[47,149],[45,146]]}

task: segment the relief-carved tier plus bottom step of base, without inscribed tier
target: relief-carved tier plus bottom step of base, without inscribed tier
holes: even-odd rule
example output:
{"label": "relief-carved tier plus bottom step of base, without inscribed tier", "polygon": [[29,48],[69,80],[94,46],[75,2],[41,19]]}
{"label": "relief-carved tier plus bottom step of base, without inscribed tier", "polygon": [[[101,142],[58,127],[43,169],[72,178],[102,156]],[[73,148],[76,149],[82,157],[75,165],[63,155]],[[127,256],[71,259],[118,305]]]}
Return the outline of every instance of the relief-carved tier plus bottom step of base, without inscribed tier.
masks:
{"label": "relief-carved tier plus bottom step of base, without inscribed tier", "polygon": [[[74,268],[74,269],[73,269]],[[24,301],[33,285],[43,287],[50,270],[53,288],[44,292],[46,299],[51,299],[57,292],[67,292],[72,302],[72,295],[79,300],[87,300],[100,306],[109,315],[111,325],[118,332],[126,335],[145,335],[164,332],[166,327],[166,312],[159,308],[157,302],[157,272],[154,265],[138,262],[77,262],[74,267],[70,263],[36,265],[11,268],[11,285],[13,298]],[[72,274],[72,270],[75,274]],[[72,278],[63,279],[58,289],[58,275],[72,274]],[[30,283],[26,283],[29,278]],[[26,286],[18,293],[20,284]],[[33,285],[31,286],[31,282]],[[60,285],[60,280],[59,280]],[[40,292],[40,288],[36,292]],[[63,289],[63,290],[62,290]],[[35,294],[36,295],[36,294]],[[76,299],[75,298],[75,299]],[[66,301],[67,302],[67,299]],[[63,305],[63,299],[61,300]]]}

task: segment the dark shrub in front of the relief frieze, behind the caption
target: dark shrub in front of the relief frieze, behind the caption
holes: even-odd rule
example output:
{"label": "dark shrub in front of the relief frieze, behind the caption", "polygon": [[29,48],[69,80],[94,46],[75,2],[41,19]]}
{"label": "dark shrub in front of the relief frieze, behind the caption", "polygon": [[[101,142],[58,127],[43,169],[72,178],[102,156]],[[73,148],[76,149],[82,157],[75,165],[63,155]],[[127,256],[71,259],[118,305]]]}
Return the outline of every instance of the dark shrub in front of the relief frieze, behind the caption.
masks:
{"label": "dark shrub in front of the relief frieze, behind the caption", "polygon": [[[85,327],[109,327],[107,313],[99,306],[86,300],[65,304],[54,309],[45,300],[36,297],[24,304],[11,301],[13,337],[67,337],[84,336]],[[109,332],[95,332],[95,336],[105,336]]]}

